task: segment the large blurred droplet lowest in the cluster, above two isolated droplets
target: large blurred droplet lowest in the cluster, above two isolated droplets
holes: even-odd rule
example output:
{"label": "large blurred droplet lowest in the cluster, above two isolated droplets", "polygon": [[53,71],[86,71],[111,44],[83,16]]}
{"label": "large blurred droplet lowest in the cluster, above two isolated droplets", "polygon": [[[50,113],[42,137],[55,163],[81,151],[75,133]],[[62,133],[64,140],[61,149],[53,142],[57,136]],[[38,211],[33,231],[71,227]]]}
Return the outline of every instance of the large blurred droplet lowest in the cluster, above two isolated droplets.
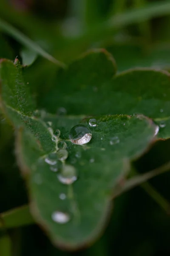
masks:
{"label": "large blurred droplet lowest in the cluster, above two isolated droplets", "polygon": [[74,166],[64,165],[61,173],[57,175],[59,181],[63,184],[72,184],[75,180],[77,180],[77,173]]}

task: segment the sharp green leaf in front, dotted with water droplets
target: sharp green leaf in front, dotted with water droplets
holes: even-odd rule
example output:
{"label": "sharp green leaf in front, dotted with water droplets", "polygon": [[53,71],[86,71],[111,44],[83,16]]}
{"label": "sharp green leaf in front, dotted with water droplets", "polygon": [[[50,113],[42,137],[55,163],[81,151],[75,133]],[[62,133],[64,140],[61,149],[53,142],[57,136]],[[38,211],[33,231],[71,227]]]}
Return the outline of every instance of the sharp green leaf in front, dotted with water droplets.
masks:
{"label": "sharp green leaf in front, dotted with water droplets", "polygon": [[[96,79],[102,84],[105,74],[111,79],[114,73],[110,55],[99,52],[99,56],[103,65],[106,56],[109,58],[106,70],[101,72],[98,55],[89,55],[89,60],[94,59],[98,64],[95,72],[99,72],[99,77],[96,73],[88,76],[93,62],[85,66],[88,76],[85,81],[90,78],[92,85]],[[141,155],[154,140],[157,127],[142,115],[96,116],[96,127],[90,126],[90,117],[85,116],[45,115],[43,120],[39,119],[20,76],[18,62],[15,63],[17,66],[6,60],[0,63],[1,105],[16,128],[17,161],[27,181],[31,212],[54,244],[77,248],[101,233],[110,211],[113,188],[127,175],[130,160]],[[92,134],[91,141],[83,146],[69,140],[71,128],[79,123],[88,127]],[[51,137],[56,129],[61,135],[53,142]],[[62,161],[58,151],[60,140],[64,140],[68,151],[68,158]],[[51,153],[57,159],[58,173],[47,163]],[[69,185],[63,184],[59,176],[68,165],[77,177]],[[67,214],[68,222],[61,224],[55,220],[56,211]]]}

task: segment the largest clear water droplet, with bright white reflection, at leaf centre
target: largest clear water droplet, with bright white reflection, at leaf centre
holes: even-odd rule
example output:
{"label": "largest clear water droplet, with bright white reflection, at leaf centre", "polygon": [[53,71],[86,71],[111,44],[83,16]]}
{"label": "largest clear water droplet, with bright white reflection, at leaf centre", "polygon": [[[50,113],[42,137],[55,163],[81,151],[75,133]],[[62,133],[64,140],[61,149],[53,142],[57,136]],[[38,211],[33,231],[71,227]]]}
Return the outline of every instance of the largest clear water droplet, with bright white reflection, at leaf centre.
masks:
{"label": "largest clear water droplet, with bright white reflection, at leaf centre", "polygon": [[92,135],[85,125],[76,125],[71,129],[69,137],[72,143],[83,145],[91,140]]}

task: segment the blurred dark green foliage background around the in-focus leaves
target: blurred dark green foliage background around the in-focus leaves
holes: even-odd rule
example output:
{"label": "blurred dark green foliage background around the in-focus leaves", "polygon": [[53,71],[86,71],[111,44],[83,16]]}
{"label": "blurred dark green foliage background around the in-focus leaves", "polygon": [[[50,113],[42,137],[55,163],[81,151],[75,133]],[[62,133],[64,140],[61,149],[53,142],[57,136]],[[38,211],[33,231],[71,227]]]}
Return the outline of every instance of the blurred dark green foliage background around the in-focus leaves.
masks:
{"label": "blurred dark green foliage background around the in-focus leaves", "polygon": [[[170,0],[0,0],[0,58],[18,56],[37,108],[45,108],[43,99],[56,86],[58,65],[38,55],[23,35],[65,64],[88,49],[106,48],[118,72],[134,67],[170,70]],[[161,166],[170,161],[169,148],[170,140],[160,140],[133,164],[139,172]],[[169,172],[150,183],[170,201]],[[169,256],[170,212],[148,193],[138,187],[116,198],[105,233],[78,252],[54,248],[36,225],[8,230],[12,256]],[[1,116],[0,212],[27,202],[13,129]],[[0,230],[1,238],[4,234]],[[8,239],[1,239],[0,256],[11,255],[8,246]]]}

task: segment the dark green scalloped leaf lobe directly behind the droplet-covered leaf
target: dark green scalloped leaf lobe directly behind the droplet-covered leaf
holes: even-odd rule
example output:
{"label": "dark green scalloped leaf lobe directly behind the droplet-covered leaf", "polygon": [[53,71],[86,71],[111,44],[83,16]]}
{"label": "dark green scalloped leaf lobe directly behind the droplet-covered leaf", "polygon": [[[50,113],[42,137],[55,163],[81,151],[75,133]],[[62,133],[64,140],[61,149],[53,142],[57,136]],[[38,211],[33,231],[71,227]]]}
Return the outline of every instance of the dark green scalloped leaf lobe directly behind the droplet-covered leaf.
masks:
{"label": "dark green scalloped leaf lobe directly behind the droplet-covered leaf", "polygon": [[170,137],[170,74],[139,68],[112,78],[104,55],[90,52],[59,72],[57,87],[41,99],[41,107],[52,113],[64,107],[68,114],[143,114],[160,125],[159,137]]}

